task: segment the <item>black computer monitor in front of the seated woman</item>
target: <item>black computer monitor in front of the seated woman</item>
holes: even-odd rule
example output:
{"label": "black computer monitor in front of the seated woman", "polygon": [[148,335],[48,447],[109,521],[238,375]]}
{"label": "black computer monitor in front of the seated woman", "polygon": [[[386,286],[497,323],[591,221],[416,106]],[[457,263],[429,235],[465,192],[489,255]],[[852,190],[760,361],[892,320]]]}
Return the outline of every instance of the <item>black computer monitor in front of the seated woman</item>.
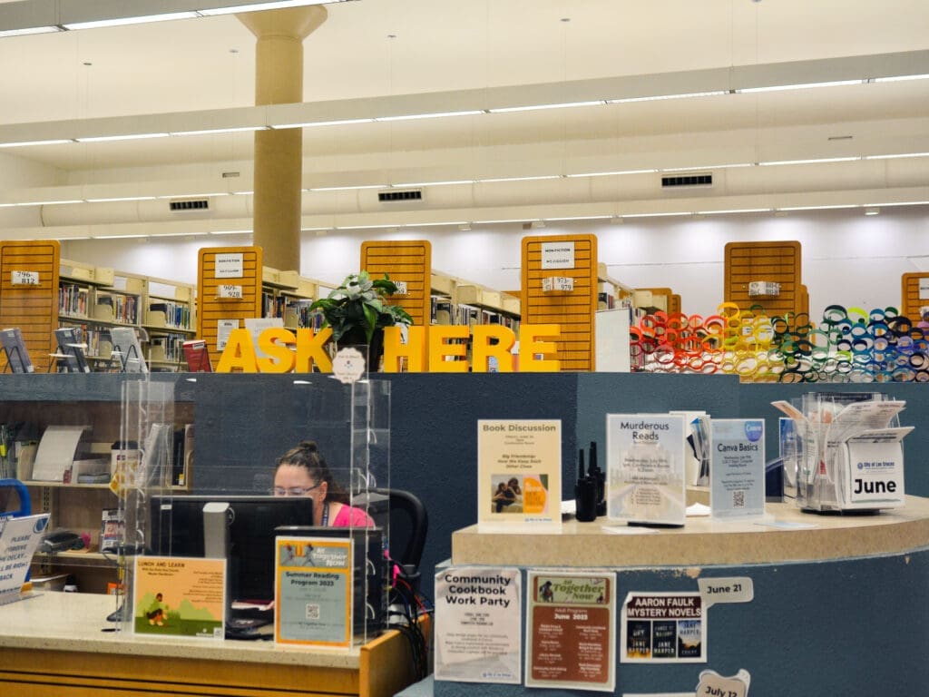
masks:
{"label": "black computer monitor in front of the seated woman", "polygon": [[307,525],[308,496],[197,494],[152,496],[150,553],[203,557],[203,506],[229,504],[229,595],[231,600],[274,598],[275,528]]}

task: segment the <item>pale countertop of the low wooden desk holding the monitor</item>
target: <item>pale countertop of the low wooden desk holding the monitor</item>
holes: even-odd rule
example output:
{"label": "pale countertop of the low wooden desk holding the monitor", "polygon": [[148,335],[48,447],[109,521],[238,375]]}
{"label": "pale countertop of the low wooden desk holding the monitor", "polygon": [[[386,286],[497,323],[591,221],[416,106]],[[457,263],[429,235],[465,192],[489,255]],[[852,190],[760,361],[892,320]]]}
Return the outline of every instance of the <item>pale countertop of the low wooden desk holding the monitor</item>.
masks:
{"label": "pale countertop of the low wooden desk holding the monitor", "polygon": [[[106,616],[116,609],[112,596],[91,593],[33,593],[0,605],[0,648],[159,658],[206,659],[236,663],[275,663],[358,669],[360,647],[295,648],[273,641],[213,638],[164,638],[134,635],[112,628]],[[106,657],[101,657],[105,659]]]}

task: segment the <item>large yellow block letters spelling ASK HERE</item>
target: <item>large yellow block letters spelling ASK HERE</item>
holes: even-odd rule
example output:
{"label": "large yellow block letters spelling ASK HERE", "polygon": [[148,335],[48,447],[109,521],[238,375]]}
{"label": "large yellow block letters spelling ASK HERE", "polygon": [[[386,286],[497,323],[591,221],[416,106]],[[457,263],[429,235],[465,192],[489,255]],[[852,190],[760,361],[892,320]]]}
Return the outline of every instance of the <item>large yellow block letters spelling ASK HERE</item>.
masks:
{"label": "large yellow block letters spelling ASK HERE", "polygon": [[[325,344],[332,336],[328,327],[314,334],[311,329],[292,332],[272,327],[258,335],[257,349],[247,329],[233,329],[216,366],[217,373],[332,373],[333,363]],[[522,373],[552,373],[560,368],[555,359],[554,339],[560,335],[557,324],[523,324],[519,327],[518,370]],[[464,342],[453,339],[471,337],[471,361],[466,360]],[[491,358],[496,370],[512,373],[517,362],[511,350],[517,335],[500,324],[436,324],[407,328],[407,342],[400,343],[400,328],[384,330],[384,372],[398,373],[401,363],[412,373],[487,373]],[[460,360],[459,360],[460,359]]]}

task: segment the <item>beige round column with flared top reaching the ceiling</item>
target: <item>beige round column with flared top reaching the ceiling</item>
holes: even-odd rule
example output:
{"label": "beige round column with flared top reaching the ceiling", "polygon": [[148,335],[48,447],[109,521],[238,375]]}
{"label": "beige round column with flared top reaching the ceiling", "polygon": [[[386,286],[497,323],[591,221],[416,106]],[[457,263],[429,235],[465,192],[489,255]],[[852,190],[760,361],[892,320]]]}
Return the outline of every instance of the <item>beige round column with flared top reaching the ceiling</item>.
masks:
{"label": "beige round column with flared top reaching the ceiling", "polygon": [[[303,40],[326,20],[321,6],[238,15],[255,34],[255,105],[303,101]],[[266,266],[300,269],[303,129],[255,132],[254,243]]]}

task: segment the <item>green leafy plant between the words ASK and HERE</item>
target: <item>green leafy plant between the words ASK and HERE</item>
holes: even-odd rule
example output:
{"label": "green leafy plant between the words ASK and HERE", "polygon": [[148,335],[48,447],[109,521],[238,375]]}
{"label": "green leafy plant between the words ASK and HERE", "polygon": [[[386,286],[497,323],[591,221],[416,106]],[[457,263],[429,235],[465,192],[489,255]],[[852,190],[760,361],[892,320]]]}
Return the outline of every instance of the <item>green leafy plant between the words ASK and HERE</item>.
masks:
{"label": "green leafy plant between the words ASK and HERE", "polygon": [[[325,318],[323,327],[332,327],[337,346],[383,346],[384,327],[412,324],[410,314],[386,298],[397,292],[397,285],[387,274],[373,279],[367,271],[346,276],[342,284],[326,297],[309,306],[319,309]],[[377,351],[373,351],[376,355]]]}

